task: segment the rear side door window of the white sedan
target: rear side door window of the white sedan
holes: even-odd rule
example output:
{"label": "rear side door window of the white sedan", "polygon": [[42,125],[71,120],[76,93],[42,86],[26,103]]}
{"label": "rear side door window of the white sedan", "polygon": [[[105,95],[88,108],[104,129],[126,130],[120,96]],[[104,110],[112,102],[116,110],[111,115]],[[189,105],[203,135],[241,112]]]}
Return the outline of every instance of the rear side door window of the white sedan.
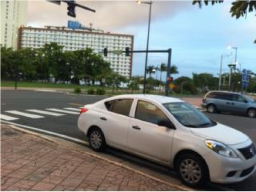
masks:
{"label": "rear side door window of the white sedan", "polygon": [[113,113],[129,116],[133,99],[117,99],[105,102],[106,109]]}

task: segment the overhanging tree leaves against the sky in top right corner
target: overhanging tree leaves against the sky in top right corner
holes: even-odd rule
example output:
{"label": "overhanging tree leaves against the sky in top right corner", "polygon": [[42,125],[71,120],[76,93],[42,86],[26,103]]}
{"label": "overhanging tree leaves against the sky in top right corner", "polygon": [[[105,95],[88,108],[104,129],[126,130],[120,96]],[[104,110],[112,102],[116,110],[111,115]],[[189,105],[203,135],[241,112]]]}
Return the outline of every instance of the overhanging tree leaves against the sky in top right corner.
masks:
{"label": "overhanging tree leaves against the sky in top right corner", "polygon": [[[224,1],[216,1],[216,0],[194,0],[193,5],[198,4],[199,7],[202,7],[202,4],[207,6],[208,3],[211,3],[211,5],[215,5],[217,3],[223,3]],[[248,12],[254,12],[256,11],[256,1],[255,0],[247,0],[247,1],[236,1],[232,2],[232,6],[230,8],[231,16],[236,16],[236,18],[240,18],[241,16],[246,16]],[[254,44],[256,44],[256,39],[254,40]]]}

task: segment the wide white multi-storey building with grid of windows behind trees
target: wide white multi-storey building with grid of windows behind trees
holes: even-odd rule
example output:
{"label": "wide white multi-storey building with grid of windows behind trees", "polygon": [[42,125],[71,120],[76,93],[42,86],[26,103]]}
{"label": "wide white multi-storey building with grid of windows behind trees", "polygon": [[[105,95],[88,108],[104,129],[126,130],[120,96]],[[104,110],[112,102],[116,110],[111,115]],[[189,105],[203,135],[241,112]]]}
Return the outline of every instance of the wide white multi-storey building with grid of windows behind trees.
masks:
{"label": "wide white multi-storey building with grid of windows behind trees", "polygon": [[42,48],[45,44],[56,42],[63,46],[64,51],[75,51],[92,48],[95,53],[103,55],[103,49],[108,48],[108,55],[103,58],[111,63],[114,72],[126,77],[132,76],[133,54],[116,54],[115,51],[125,51],[126,47],[133,50],[133,35],[104,33],[102,30],[69,29],[66,27],[45,26],[45,28],[22,27],[19,29],[18,48]]}

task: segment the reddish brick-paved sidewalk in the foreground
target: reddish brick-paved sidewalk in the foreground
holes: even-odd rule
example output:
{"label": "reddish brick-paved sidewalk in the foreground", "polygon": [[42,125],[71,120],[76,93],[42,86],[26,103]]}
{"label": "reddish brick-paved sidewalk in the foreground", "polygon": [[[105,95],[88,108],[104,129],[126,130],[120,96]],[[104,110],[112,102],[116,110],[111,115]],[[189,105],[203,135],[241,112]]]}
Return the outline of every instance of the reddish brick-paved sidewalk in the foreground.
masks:
{"label": "reddish brick-paved sidewalk in the foreground", "polygon": [[182,190],[1,125],[1,190]]}

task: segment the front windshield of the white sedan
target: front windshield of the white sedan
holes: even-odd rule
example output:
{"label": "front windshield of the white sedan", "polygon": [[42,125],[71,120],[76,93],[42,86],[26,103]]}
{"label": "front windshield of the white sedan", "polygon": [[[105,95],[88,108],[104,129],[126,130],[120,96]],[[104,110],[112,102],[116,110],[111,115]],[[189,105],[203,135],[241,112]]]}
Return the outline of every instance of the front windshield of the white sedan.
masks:
{"label": "front windshield of the white sedan", "polygon": [[177,102],[163,105],[184,126],[210,127],[217,124],[189,103]]}

